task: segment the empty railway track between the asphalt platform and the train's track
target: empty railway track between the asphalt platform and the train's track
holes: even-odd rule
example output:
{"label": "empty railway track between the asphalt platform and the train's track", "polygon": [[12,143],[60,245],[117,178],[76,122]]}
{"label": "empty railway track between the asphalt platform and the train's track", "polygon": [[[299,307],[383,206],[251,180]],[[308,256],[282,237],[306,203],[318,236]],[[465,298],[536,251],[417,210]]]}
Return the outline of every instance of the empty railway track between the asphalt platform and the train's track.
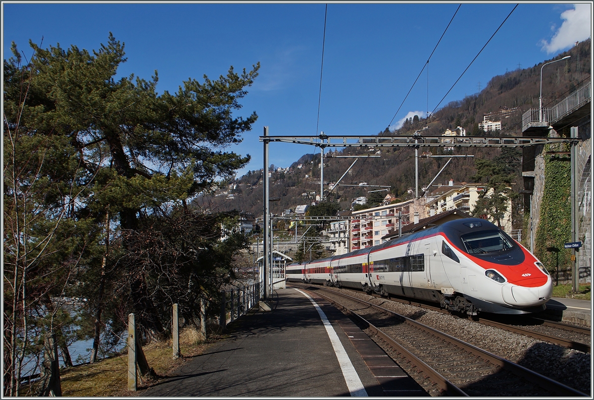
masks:
{"label": "empty railway track between the asphalt platform and the train's track", "polygon": [[[456,337],[362,299],[309,287],[359,320],[364,329],[454,396],[586,396]],[[383,342],[383,343],[381,343]]]}

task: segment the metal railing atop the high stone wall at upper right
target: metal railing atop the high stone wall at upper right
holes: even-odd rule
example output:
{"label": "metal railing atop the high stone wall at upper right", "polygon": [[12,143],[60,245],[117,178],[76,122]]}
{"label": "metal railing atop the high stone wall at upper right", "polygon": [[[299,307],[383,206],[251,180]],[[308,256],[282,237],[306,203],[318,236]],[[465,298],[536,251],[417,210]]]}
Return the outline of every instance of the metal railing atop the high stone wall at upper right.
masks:
{"label": "metal railing atop the high stone wall at upper right", "polygon": [[552,107],[542,108],[542,120],[538,108],[530,108],[522,114],[522,132],[529,127],[546,127],[561,118],[567,117],[592,99],[591,82],[578,87],[574,92],[565,97]]}

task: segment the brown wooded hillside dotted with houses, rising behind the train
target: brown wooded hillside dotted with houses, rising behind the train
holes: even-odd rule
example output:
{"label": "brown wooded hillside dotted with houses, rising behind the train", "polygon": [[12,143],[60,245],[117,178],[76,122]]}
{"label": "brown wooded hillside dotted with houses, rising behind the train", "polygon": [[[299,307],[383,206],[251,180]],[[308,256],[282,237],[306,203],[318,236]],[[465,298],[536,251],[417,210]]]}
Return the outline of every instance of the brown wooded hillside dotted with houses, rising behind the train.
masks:
{"label": "brown wooded hillside dotted with houses, rising behind the train", "polygon": [[[542,76],[544,101],[543,105],[554,104],[558,99],[568,95],[571,91],[590,79],[590,40],[578,43],[570,50],[558,55],[555,59],[571,55],[571,58],[558,62],[545,68]],[[460,101],[452,101],[445,105],[428,120],[421,115],[406,120],[400,129],[392,132],[388,129],[378,132],[378,135],[413,135],[419,131],[424,136],[443,135],[446,129],[456,129],[460,126],[466,129],[470,136],[522,136],[522,114],[529,108],[538,108],[539,83],[541,79],[542,64],[551,60],[544,60],[530,68],[508,71],[501,76],[493,77],[480,93],[466,96]],[[484,132],[479,129],[485,114],[497,114],[508,111],[507,115],[492,120],[501,121],[501,132]],[[505,113],[504,113],[505,114]],[[339,135],[340,133],[336,133]],[[310,151],[311,148],[304,150]],[[271,167],[270,197],[280,198],[280,201],[271,202],[271,212],[280,214],[287,208],[295,208],[299,204],[315,202],[315,195],[320,193],[320,151],[313,154],[304,154],[299,160],[293,162],[289,168],[278,169]],[[423,150],[426,151],[426,150]],[[501,150],[497,148],[457,148],[447,152],[443,148],[432,150],[435,155],[444,154],[473,154],[474,158],[456,158],[435,181],[435,184],[447,185],[453,179],[456,184],[460,182],[488,183],[489,175],[480,173],[481,169],[501,168],[505,164],[512,166],[504,168],[504,174],[513,183],[512,198],[516,199],[516,221],[514,225],[522,227],[522,208],[517,192],[522,190],[521,151]],[[331,154],[329,154],[331,153]],[[334,183],[347,170],[352,163],[348,158],[332,158],[334,154],[327,149],[324,161],[324,182]],[[381,158],[368,158],[359,160],[349,171],[341,184],[359,185],[365,182],[368,185],[389,185],[390,192],[399,201],[412,198],[407,189],[415,185],[415,157],[412,148],[348,148],[336,154],[363,155],[378,154]],[[490,160],[495,165],[480,164],[480,160]],[[508,162],[514,160],[514,162]],[[427,185],[447,162],[447,158],[420,158],[419,159],[419,186]],[[499,165],[503,164],[503,165]],[[508,165],[508,167],[509,167]],[[501,167],[501,168],[500,168]],[[501,177],[501,174],[499,174]],[[211,210],[236,210],[252,212],[254,215],[262,214],[262,170],[249,171],[242,177],[226,182],[221,189],[201,195],[195,203]],[[492,180],[492,179],[491,179]],[[367,190],[377,187],[339,186],[333,190],[328,198],[340,205],[340,210],[351,207],[353,198],[367,196]],[[430,188],[434,189],[434,188]],[[419,187],[419,190],[421,188]],[[384,194],[386,192],[383,192]],[[494,205],[485,205],[494,207]],[[520,218],[518,220],[518,218]]]}

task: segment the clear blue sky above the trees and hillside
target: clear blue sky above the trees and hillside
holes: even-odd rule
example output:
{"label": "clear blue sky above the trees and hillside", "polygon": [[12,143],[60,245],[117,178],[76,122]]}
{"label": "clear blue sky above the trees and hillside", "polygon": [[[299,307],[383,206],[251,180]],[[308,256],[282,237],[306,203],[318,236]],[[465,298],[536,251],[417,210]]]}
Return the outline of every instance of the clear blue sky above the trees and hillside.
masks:
{"label": "clear blue sky above the trees and hillside", "polygon": [[[459,3],[328,4],[320,117],[318,95],[325,3],[58,4],[3,2],[3,58],[14,40],[30,54],[43,47],[97,49],[109,32],[125,43],[118,74],[150,79],[175,92],[182,80],[216,79],[260,62],[260,76],[237,115],[258,120],[230,151],[250,154],[239,171],[263,167],[263,126],[270,135],[375,135],[405,99]],[[515,3],[462,3],[391,128],[424,116],[495,32]],[[520,4],[441,103],[464,98],[507,70],[532,67],[591,36],[591,3]],[[318,127],[316,129],[316,127]],[[287,167],[312,146],[273,143],[270,162]]]}

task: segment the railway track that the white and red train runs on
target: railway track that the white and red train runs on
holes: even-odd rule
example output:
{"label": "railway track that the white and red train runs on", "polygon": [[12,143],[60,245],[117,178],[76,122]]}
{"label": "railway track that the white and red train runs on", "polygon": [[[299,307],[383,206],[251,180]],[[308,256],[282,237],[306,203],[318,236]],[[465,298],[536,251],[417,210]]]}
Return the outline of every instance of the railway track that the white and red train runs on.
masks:
{"label": "railway track that the white and red train runs on", "polygon": [[[353,290],[353,289],[346,289]],[[353,290],[353,292],[357,292]],[[375,298],[382,298],[380,295],[372,294]],[[385,299],[385,298],[384,298]],[[388,297],[390,301],[400,302],[402,304],[414,305],[415,307],[424,308],[425,310],[433,310],[437,312],[443,312],[449,314],[447,310],[443,308],[435,307],[433,305],[424,304],[422,302],[411,301],[408,299],[400,299],[395,297]],[[563,346],[568,349],[575,349],[583,351],[584,353],[590,352],[590,328],[580,327],[571,324],[565,324],[555,321],[543,320],[542,318],[528,317],[525,318],[525,323],[514,322],[505,323],[500,320],[493,320],[491,318],[472,318],[474,321],[500,329],[505,329],[508,332],[519,333],[533,337],[534,339],[543,340],[544,342],[554,343],[555,345]],[[527,322],[527,324],[526,324]],[[545,327],[545,329],[543,329]],[[546,329],[548,328],[548,329]],[[548,332],[547,332],[548,331]]]}

